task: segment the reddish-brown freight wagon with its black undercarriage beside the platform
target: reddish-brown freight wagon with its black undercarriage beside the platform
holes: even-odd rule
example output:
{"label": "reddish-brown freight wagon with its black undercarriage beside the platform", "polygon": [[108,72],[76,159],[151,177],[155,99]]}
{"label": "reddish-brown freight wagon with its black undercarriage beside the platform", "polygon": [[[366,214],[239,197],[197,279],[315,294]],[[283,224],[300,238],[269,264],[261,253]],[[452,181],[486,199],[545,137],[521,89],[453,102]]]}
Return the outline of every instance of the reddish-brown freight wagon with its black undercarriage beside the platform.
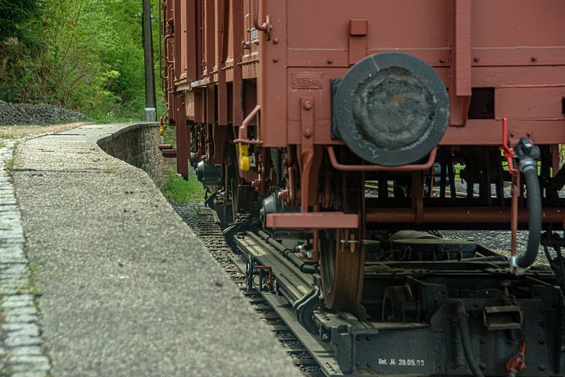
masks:
{"label": "reddish-brown freight wagon with its black undercarriage beside the platform", "polygon": [[[312,275],[273,289],[340,373],[565,374],[562,1],[160,9],[178,174],[196,168],[250,275],[250,234]],[[437,231],[494,229],[510,257]]]}

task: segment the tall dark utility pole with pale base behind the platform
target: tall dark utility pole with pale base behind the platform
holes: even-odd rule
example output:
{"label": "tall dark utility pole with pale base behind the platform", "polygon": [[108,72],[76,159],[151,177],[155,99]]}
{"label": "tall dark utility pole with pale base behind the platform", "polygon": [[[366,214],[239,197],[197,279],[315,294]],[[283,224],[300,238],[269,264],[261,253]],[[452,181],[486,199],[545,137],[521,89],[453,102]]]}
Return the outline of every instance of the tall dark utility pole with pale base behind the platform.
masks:
{"label": "tall dark utility pole with pale base behind the platform", "polygon": [[[151,1],[143,0],[143,50],[145,53],[145,120],[157,120],[155,93],[155,66],[153,61],[153,28],[151,26]],[[154,109],[153,111],[147,109]],[[148,111],[151,114],[148,114]]]}

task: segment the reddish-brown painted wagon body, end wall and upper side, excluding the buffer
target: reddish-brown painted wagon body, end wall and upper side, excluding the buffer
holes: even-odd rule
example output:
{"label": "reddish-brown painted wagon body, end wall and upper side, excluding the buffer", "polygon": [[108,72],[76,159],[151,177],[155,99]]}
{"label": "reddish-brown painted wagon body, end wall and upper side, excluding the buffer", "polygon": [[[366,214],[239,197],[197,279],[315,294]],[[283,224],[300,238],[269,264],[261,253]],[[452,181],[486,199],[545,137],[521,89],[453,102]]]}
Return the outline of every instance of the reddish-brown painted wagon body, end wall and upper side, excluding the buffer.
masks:
{"label": "reddish-brown painted wagon body, end wall and upper side, excluding the buffer", "polygon": [[[434,66],[445,85],[454,88],[450,90],[454,109],[451,125],[464,127],[450,127],[443,145],[494,145],[498,130],[493,130],[493,120],[466,120],[470,89],[476,87],[495,88],[494,116],[517,120],[513,123],[517,132],[533,131],[538,143],[553,141],[550,139],[556,134],[563,141],[565,121],[559,113],[559,102],[565,89],[565,46],[556,35],[565,32],[558,21],[565,10],[557,0],[535,6],[529,1],[511,2],[510,6],[508,1],[383,0],[376,4],[365,0],[348,6],[338,1],[326,1],[324,6],[297,0],[232,0],[220,1],[217,6],[214,1],[168,1],[169,9],[173,5],[180,7],[180,15],[175,15],[180,20],[175,40],[180,42],[175,44],[174,55],[180,55],[181,61],[175,60],[178,67],[174,75],[178,80],[187,68],[187,76],[199,80],[210,76],[214,67],[222,71],[223,64],[229,66],[229,80],[234,82],[233,102],[226,103],[230,97],[224,96],[225,90],[230,89],[218,83],[224,88],[219,92],[219,120],[225,124],[225,111],[229,111],[227,119],[239,125],[243,120],[237,106],[242,70],[249,71],[246,66],[259,63],[261,77],[257,86],[259,104],[263,106],[264,145],[284,147],[288,142],[300,142],[296,131],[299,98],[305,91],[319,102],[315,110],[315,143],[335,144],[339,141],[331,140],[328,132],[329,79],[342,77],[362,57],[397,50]],[[202,3],[211,13],[205,20],[201,17],[204,12],[199,10]],[[378,7],[379,12],[366,18],[366,10],[372,7]],[[316,14],[319,21],[313,21],[311,14]],[[254,15],[261,28],[269,16],[269,33],[254,27]],[[168,16],[169,10],[165,19]],[[228,33],[224,32],[226,23]],[[293,28],[287,30],[288,25]],[[205,44],[199,46],[201,40]],[[244,41],[248,41],[248,49]],[[351,55],[352,50],[358,52]],[[224,53],[226,56],[218,56]],[[198,67],[205,71],[195,73]],[[252,71],[256,73],[248,72],[246,77],[256,77],[258,71]],[[215,80],[227,82],[228,76],[216,74],[212,82]],[[282,90],[285,87],[292,90]],[[284,129],[286,132],[280,132]],[[477,131],[484,131],[484,137],[476,138]]]}

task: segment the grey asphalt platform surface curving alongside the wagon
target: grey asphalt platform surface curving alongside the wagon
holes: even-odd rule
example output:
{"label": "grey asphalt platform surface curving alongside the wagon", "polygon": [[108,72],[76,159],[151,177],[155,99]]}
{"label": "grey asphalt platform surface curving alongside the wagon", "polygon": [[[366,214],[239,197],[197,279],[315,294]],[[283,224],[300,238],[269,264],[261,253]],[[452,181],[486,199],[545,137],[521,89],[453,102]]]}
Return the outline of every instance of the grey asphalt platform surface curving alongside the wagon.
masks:
{"label": "grey asphalt platform surface curving alongside the wagon", "polygon": [[98,147],[122,127],[28,140],[16,154],[51,374],[298,376],[145,172]]}

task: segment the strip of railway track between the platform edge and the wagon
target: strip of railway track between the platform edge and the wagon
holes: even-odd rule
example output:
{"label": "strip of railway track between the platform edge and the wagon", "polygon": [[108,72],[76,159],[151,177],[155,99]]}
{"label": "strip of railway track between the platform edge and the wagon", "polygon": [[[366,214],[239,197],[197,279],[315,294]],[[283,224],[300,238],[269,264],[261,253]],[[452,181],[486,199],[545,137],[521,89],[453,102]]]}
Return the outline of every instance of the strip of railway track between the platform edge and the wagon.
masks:
{"label": "strip of railway track between the platform edge and the wagon", "polygon": [[196,232],[198,238],[203,241],[210,254],[225,270],[225,273],[242,291],[257,314],[257,318],[275,333],[284,351],[302,371],[302,375],[305,377],[325,376],[315,358],[265,299],[263,292],[258,291],[257,288],[248,289],[245,274],[246,261],[238,255],[234,255],[230,246],[225,243],[222,228],[219,225],[219,220],[215,217],[215,213],[210,208],[201,208],[198,216],[192,219],[184,219]]}

